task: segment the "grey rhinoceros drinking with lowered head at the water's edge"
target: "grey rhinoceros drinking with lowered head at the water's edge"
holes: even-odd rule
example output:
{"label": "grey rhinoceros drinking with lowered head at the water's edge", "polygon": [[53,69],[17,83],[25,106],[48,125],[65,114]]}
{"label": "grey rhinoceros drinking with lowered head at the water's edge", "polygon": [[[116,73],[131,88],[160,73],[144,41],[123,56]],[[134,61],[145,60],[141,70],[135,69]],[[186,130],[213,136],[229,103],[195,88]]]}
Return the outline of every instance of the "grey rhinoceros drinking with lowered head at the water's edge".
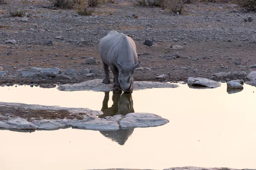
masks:
{"label": "grey rhinoceros drinking with lowered head at the water's edge", "polygon": [[99,42],[99,55],[105,71],[103,83],[110,83],[110,66],[114,75],[114,88],[121,88],[126,93],[132,92],[134,70],[140,64],[137,62],[135,42],[125,34],[110,31]]}

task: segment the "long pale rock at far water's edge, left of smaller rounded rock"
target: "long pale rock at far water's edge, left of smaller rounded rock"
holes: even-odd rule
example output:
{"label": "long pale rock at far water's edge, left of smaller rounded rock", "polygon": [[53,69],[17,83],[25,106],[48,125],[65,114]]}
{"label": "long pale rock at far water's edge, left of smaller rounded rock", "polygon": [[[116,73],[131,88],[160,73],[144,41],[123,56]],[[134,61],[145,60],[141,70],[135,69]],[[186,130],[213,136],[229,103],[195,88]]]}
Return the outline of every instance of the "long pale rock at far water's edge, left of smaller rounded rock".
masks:
{"label": "long pale rock at far water's edge, left of smaller rounded rock", "polygon": [[186,82],[190,86],[203,86],[206,88],[218,88],[221,86],[219,82],[201,77],[189,77]]}

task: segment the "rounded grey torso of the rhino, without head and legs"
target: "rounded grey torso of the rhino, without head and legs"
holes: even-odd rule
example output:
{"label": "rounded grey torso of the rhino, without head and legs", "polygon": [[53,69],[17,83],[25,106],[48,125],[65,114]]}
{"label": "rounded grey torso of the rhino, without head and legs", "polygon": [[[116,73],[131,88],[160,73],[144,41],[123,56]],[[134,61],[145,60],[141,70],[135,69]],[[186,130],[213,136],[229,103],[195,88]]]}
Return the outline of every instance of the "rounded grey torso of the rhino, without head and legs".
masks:
{"label": "rounded grey torso of the rhino, without head and legs", "polygon": [[116,65],[118,60],[123,62],[137,62],[136,45],[125,34],[111,31],[99,42],[99,55],[106,64]]}

